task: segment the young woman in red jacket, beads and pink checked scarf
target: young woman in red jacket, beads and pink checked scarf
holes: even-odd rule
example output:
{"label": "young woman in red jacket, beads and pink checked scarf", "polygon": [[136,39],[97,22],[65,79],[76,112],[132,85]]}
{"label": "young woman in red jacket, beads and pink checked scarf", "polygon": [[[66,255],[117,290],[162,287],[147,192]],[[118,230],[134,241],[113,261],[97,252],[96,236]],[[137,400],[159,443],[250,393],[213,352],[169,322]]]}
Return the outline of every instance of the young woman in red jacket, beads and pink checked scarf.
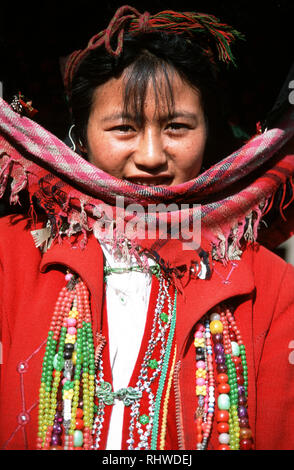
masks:
{"label": "young woman in red jacket, beads and pink checked scarf", "polygon": [[216,163],[237,35],[119,9],[65,70],[85,159],[1,102],[4,449],[293,448],[294,270],[256,238],[294,131]]}

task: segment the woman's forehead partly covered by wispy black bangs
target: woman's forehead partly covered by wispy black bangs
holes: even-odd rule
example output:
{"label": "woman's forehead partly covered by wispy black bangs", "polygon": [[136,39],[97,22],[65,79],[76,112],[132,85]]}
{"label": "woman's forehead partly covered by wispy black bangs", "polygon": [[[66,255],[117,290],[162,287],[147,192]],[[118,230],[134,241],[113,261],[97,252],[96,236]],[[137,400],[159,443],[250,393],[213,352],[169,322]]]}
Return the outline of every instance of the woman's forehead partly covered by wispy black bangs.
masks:
{"label": "woman's forehead partly covered by wispy black bangs", "polygon": [[133,80],[131,70],[125,70],[119,78],[111,78],[99,86],[93,96],[93,112],[101,114],[174,113],[182,109],[202,111],[200,91],[182,79],[176,71],[168,76],[161,71],[149,76],[145,83]]}

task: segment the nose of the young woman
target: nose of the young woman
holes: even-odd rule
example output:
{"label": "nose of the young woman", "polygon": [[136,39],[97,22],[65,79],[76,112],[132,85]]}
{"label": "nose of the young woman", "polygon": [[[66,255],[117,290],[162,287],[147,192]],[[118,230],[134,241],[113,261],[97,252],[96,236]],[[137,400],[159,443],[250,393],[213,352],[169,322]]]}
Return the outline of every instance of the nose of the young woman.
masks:
{"label": "nose of the young woman", "polygon": [[134,163],[138,169],[153,173],[166,167],[167,154],[158,129],[145,129],[141,133],[134,153]]}

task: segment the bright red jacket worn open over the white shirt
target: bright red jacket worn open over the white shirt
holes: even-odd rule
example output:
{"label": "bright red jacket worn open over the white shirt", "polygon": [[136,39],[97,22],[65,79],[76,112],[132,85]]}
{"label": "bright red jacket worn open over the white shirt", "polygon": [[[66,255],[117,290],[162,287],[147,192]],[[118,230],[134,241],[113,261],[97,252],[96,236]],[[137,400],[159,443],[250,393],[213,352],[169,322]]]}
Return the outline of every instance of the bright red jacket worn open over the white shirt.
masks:
{"label": "bright red jacket worn open over the white shirt", "polygon": [[[34,246],[27,221],[19,216],[0,220],[0,234],[0,445],[3,449],[34,449],[44,345],[58,293],[64,286],[65,267],[77,272],[88,285],[95,332],[103,311],[103,254],[97,240],[90,236],[84,250],[72,248],[65,241],[42,255]],[[210,280],[191,280],[185,296],[179,294],[175,331],[178,357],[167,449],[195,449],[192,330],[207,311],[226,299],[233,299],[237,305],[235,318],[246,345],[254,446],[294,448],[293,287],[294,268],[259,247],[247,249],[242,260],[234,264],[216,263]],[[217,446],[214,425],[209,448]]]}

